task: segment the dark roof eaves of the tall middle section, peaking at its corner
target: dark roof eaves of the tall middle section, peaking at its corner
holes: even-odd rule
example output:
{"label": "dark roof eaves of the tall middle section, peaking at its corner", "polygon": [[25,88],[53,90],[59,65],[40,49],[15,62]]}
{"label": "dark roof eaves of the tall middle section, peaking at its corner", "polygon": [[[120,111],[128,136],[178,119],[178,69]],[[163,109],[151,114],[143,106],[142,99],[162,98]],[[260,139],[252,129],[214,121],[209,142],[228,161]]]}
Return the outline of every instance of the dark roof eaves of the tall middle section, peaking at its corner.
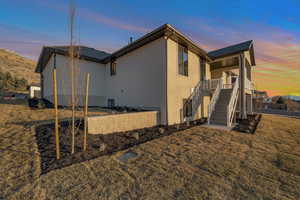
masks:
{"label": "dark roof eaves of the tall middle section, peaking at its corner", "polygon": [[154,41],[162,36],[166,36],[172,38],[174,40],[178,40],[180,43],[187,45],[189,50],[203,56],[207,60],[211,61],[211,59],[207,56],[207,52],[200,48],[196,43],[194,43],[191,39],[189,39],[184,34],[180,33],[177,29],[172,27],[170,24],[164,24],[152,32],[144,35],[143,37],[135,40],[134,42],[128,44],[127,46],[121,48],[120,50],[112,53],[109,57],[104,59],[104,62],[109,62],[110,60],[116,59],[124,54],[127,54],[151,41]]}

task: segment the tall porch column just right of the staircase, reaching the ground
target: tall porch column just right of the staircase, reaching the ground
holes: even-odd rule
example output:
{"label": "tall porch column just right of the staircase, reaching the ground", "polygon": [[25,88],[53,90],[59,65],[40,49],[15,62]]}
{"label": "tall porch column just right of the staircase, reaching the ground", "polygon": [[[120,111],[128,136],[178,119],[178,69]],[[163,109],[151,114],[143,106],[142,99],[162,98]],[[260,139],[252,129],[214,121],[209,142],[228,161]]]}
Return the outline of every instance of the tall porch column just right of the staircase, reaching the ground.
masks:
{"label": "tall porch column just right of the staircase, reaching the ground", "polygon": [[239,55],[239,67],[240,67],[240,113],[239,117],[241,119],[247,119],[247,108],[246,108],[246,94],[245,94],[245,81],[246,81],[246,73],[245,73],[245,56],[244,54]]}

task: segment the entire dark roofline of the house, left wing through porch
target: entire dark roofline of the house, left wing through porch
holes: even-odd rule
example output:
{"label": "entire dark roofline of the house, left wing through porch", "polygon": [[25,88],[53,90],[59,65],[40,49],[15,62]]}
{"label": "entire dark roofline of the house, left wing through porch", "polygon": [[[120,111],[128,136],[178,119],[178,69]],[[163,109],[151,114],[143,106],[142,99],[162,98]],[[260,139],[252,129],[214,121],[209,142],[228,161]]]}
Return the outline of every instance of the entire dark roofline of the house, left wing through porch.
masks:
{"label": "entire dark roofline of the house, left wing through porch", "polygon": [[[231,54],[236,54],[242,51],[250,50],[251,55],[251,64],[255,65],[254,59],[254,50],[253,50],[253,42],[252,40],[243,42],[240,44],[232,45],[229,47],[225,47],[222,49],[218,49],[215,51],[211,51],[207,53],[205,50],[200,48],[195,42],[189,39],[186,35],[179,32],[170,24],[164,24],[157,29],[153,30],[152,32],[142,36],[141,38],[135,40],[134,42],[126,45],[125,47],[113,52],[112,54],[106,53],[104,51],[99,51],[94,48],[89,48],[85,46],[76,46],[75,52],[79,51],[79,57],[81,59],[103,63],[106,64],[118,57],[121,57],[137,48],[140,48],[160,37],[167,37],[172,40],[177,41],[181,45],[185,45],[188,49],[208,61],[213,61],[213,59],[225,57]],[[45,46],[42,49],[41,55],[38,60],[38,64],[36,67],[36,72],[42,72],[45,68],[46,64],[48,63],[51,55],[53,53],[61,54],[61,55],[68,55],[69,54],[69,46]]]}

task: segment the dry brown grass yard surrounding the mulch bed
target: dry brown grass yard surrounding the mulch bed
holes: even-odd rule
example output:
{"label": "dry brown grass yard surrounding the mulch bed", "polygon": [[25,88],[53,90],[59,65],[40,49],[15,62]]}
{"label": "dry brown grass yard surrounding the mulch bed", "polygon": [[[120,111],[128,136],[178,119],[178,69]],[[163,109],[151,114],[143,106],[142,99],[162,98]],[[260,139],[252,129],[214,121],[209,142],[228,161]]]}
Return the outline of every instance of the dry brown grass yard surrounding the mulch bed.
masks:
{"label": "dry brown grass yard surrounding the mulch bed", "polygon": [[255,135],[195,126],[42,173],[31,126],[53,110],[0,110],[0,199],[300,199],[300,119],[264,115]]}

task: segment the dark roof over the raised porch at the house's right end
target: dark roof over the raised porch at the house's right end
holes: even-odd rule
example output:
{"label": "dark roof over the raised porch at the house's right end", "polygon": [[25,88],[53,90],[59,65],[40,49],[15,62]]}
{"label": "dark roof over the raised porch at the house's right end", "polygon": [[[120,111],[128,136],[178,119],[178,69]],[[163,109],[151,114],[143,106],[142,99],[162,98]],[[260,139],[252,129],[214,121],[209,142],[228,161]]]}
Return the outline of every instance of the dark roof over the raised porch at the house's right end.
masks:
{"label": "dark roof over the raised porch at the house's right end", "polygon": [[246,42],[242,42],[239,44],[231,45],[222,49],[217,49],[214,51],[208,52],[208,56],[212,59],[223,58],[226,56],[238,54],[243,51],[250,51],[251,56],[251,64],[255,65],[255,58],[254,58],[254,49],[253,49],[253,41],[249,40]]}

